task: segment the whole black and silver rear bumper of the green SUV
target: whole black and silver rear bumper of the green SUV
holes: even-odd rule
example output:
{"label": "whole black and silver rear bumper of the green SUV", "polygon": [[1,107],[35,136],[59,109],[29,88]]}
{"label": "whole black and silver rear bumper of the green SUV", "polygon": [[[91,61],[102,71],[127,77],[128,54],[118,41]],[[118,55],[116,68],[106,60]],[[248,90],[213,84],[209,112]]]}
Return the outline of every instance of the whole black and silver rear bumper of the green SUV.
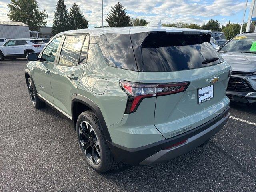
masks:
{"label": "whole black and silver rear bumper of the green SUV", "polygon": [[[180,134],[170,139],[162,140],[147,146],[138,148],[126,148],[118,144],[108,142],[108,146],[114,157],[126,164],[150,165],[172,160],[192,149],[204,144],[212,136],[221,130],[229,117],[229,107],[216,118],[205,124],[194,128],[184,134]],[[178,142],[187,140],[178,146],[166,149]]]}

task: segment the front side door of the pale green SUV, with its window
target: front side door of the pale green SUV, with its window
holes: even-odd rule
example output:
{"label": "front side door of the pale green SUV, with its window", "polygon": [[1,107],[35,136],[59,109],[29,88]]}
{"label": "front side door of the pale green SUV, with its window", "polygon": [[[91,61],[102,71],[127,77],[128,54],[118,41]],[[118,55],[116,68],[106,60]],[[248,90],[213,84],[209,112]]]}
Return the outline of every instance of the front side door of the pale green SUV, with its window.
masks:
{"label": "front side door of the pale green SUV, with its window", "polygon": [[56,61],[56,54],[62,37],[55,38],[42,52],[42,56],[34,66],[34,83],[37,93],[53,105],[53,94],[50,74]]}

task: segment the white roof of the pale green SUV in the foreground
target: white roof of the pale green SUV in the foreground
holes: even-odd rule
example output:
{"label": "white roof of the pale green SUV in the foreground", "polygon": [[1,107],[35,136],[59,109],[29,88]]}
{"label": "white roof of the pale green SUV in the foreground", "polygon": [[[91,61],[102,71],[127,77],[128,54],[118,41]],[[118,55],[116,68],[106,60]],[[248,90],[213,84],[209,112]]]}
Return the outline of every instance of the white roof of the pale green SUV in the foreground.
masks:
{"label": "white roof of the pale green SUV in the foreground", "polygon": [[180,32],[202,32],[210,33],[210,30],[198,30],[198,29],[187,29],[187,28],[176,28],[176,27],[104,27],[104,28],[92,28],[92,29],[77,29],[65,31],[57,34],[67,35],[67,34],[79,34],[88,33],[90,36],[101,36],[104,34],[136,34],[143,32],[168,32],[168,33],[180,33]]}

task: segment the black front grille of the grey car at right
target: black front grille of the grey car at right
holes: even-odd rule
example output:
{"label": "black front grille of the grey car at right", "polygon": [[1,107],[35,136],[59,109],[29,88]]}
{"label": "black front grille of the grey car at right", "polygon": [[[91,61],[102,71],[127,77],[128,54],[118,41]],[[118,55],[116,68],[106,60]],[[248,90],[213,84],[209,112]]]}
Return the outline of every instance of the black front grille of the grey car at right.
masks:
{"label": "black front grille of the grey car at right", "polygon": [[238,77],[230,77],[227,90],[238,92],[252,92],[247,82],[244,79]]}

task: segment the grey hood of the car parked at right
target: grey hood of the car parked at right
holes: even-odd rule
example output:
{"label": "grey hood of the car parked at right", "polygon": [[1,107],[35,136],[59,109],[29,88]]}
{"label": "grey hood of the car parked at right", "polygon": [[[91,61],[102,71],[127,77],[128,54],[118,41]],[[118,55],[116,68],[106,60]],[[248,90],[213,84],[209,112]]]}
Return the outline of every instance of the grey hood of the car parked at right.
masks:
{"label": "grey hood of the car parked at right", "polygon": [[233,71],[255,72],[256,54],[254,53],[220,53],[222,58],[231,65]]}

